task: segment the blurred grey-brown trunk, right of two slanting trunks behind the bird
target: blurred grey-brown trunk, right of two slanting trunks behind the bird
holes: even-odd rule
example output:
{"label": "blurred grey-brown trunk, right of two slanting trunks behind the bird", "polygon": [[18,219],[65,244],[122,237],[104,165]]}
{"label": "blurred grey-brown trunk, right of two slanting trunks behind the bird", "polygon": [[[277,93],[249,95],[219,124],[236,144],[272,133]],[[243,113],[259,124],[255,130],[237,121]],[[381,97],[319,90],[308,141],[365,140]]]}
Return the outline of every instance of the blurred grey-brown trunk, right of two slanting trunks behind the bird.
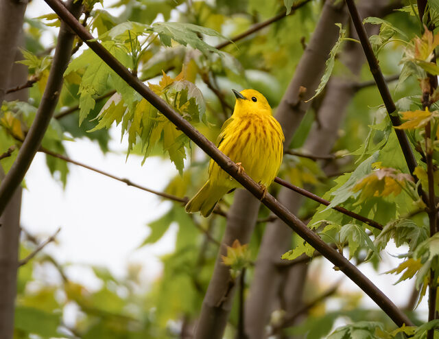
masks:
{"label": "blurred grey-brown trunk, right of two slanting trunks behind the bird", "polygon": [[[364,16],[379,16],[383,12],[381,0],[373,0],[360,10]],[[386,7],[387,8],[387,7]],[[377,26],[373,27],[375,30]],[[364,64],[364,55],[361,46],[357,43],[347,43],[342,54],[344,65],[358,75]],[[337,139],[337,130],[344,119],[346,108],[355,94],[355,80],[332,78],[318,110],[318,124],[315,122],[307,141],[303,147],[305,153],[326,156],[330,154]],[[296,213],[300,208],[302,198],[294,192],[282,189],[278,200]],[[302,304],[302,291],[305,284],[307,262],[293,266],[287,274],[278,269],[279,258],[291,246],[292,232],[285,229],[283,222],[276,220],[265,229],[263,241],[259,250],[257,264],[254,271],[254,281],[250,287],[247,301],[247,333],[251,339],[264,338],[264,328],[270,314],[276,305],[278,289],[283,288],[283,302],[286,316],[293,314]],[[287,281],[284,281],[287,279]]]}

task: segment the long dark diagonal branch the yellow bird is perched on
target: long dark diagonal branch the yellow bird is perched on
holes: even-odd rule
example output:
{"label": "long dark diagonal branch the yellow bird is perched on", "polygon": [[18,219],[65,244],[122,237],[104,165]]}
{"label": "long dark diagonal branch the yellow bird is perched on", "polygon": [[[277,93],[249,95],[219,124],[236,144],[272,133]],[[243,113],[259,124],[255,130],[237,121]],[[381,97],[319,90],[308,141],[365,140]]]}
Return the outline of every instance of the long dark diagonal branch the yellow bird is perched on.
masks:
{"label": "long dark diagonal branch the yellow bird is perched on", "polygon": [[[228,156],[220,152],[215,145],[206,139],[196,128],[188,121],[183,119],[171,106],[169,106],[161,97],[158,97],[149,87],[145,86],[138,78],[134,77],[128,69],[115,59],[93,36],[87,32],[77,19],[60,3],[58,0],[45,0],[45,2],[58,14],[60,19],[67,23],[71,29],[84,40],[84,43],[90,47],[106,64],[115,71],[129,86],[132,86],[142,97],[150,104],[157,108],[165,117],[177,126],[187,137],[196,143],[206,154],[211,156],[225,172],[230,174],[252,195],[259,198],[265,206],[274,214],[278,215],[290,228],[292,228],[300,237],[305,239],[311,246],[316,248],[324,257],[327,257],[335,266],[340,268],[344,274],[351,278],[370,298],[383,309],[383,311],[392,318],[396,325],[400,327],[412,325],[412,322],[401,310],[390,301],[388,296],[375,286],[364,274],[362,274],[350,261],[340,255],[336,250],[326,244],[318,235],[313,233],[307,226],[300,221],[296,215],[289,212],[281,203],[279,203],[271,194],[264,194],[263,188],[256,183],[248,174],[241,172],[239,167],[231,161]],[[62,72],[61,72],[62,73]],[[265,195],[265,196],[264,196]]]}

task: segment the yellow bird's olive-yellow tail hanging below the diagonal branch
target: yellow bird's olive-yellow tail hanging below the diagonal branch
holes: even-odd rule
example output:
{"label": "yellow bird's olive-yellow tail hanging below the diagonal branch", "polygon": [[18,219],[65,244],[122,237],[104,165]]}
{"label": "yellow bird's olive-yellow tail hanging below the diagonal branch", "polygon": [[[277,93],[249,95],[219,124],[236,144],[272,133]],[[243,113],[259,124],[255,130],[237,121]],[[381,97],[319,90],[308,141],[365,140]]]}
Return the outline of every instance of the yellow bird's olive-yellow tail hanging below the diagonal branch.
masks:
{"label": "yellow bird's olive-yellow tail hanging below the diagonal branch", "polygon": [[200,191],[186,204],[185,210],[187,213],[201,211],[201,214],[207,218],[227,191],[227,187],[212,185],[211,180],[207,180]]}

